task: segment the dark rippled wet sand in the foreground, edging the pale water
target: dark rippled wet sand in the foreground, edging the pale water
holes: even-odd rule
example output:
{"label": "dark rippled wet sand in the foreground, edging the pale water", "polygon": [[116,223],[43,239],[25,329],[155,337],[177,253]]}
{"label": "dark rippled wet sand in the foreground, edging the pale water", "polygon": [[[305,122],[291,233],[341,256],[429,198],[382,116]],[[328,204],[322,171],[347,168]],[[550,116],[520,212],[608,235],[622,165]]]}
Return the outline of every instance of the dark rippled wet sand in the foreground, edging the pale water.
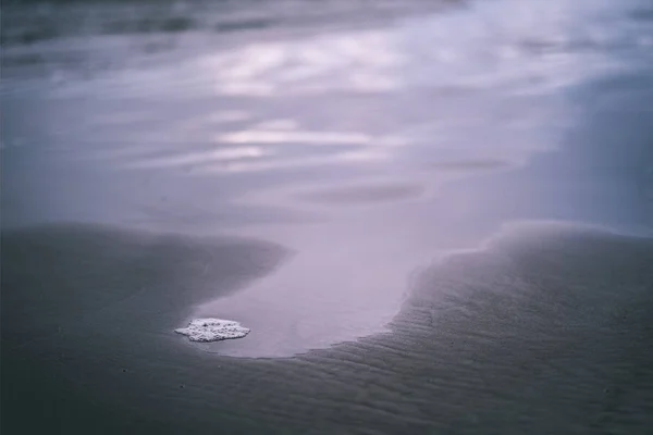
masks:
{"label": "dark rippled wet sand in the foreground, edging the pale water", "polygon": [[285,253],[94,226],[3,234],[3,433],[653,425],[651,239],[551,224],[508,231],[426,270],[391,334],[293,359],[220,357],[171,332],[192,304]]}

